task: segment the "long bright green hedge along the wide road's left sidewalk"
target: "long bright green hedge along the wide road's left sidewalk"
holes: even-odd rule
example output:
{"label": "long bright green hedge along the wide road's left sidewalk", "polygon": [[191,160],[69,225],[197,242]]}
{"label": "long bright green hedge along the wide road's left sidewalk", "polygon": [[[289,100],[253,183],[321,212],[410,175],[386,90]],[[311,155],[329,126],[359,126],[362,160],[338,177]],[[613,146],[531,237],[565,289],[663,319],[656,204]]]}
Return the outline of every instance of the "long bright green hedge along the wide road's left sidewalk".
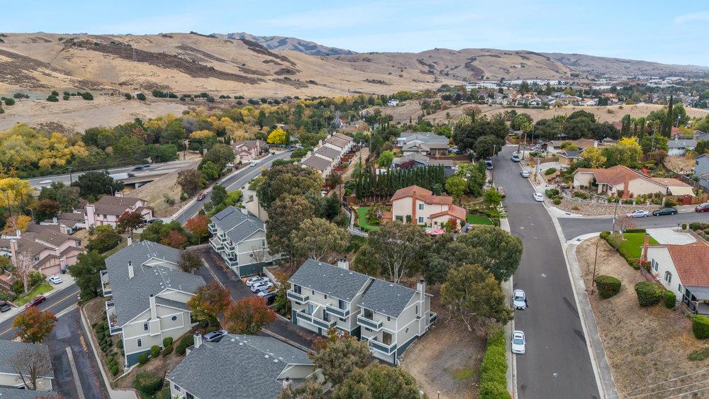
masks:
{"label": "long bright green hedge along the wide road's left sidewalk", "polygon": [[499,329],[488,338],[480,365],[480,398],[510,398],[507,390],[507,349],[505,330]]}

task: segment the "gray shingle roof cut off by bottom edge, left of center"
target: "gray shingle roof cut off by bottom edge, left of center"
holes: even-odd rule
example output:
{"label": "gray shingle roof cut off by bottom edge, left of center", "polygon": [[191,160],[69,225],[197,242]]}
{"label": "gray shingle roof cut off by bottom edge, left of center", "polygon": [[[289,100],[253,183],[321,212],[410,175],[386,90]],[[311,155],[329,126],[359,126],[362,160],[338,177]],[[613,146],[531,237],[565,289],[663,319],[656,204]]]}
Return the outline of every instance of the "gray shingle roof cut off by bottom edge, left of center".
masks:
{"label": "gray shingle roof cut off by bottom edge, left of center", "polygon": [[277,398],[282,388],[277,377],[289,364],[313,362],[306,352],[271,337],[227,335],[191,351],[167,379],[202,399]]}

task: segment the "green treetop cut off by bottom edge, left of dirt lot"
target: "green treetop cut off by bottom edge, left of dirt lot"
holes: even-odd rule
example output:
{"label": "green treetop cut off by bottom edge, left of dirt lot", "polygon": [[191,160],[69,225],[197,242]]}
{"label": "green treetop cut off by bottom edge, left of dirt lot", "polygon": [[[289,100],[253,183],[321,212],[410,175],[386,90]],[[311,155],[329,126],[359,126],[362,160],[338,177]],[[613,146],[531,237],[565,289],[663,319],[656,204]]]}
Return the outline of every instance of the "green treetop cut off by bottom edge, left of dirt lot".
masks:
{"label": "green treetop cut off by bottom edge, left of dirt lot", "polygon": [[420,396],[416,380],[408,371],[377,363],[354,369],[333,392],[333,399],[418,399]]}

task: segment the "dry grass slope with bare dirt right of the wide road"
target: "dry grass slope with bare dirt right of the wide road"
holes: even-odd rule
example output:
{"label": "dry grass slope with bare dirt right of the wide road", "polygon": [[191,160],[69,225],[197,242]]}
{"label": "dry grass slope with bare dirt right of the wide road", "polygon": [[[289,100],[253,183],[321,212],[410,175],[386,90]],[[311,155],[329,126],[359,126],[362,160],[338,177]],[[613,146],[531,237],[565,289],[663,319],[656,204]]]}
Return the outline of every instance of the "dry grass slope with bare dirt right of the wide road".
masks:
{"label": "dry grass slope with bare dirt right of the wide road", "polygon": [[[598,240],[601,239],[586,240],[576,249],[586,287],[591,287]],[[613,298],[589,296],[620,397],[668,398],[707,387],[707,371],[668,381],[709,367],[709,359],[687,359],[688,354],[705,347],[706,343],[694,338],[691,321],[682,308],[670,310],[662,303],[641,308],[633,288],[635,283],[644,280],[640,271],[628,266],[603,240],[598,245],[597,274],[614,276],[623,283],[620,293]],[[705,382],[673,389],[698,381]],[[653,386],[648,387],[650,385]],[[702,392],[706,397],[707,391]]]}

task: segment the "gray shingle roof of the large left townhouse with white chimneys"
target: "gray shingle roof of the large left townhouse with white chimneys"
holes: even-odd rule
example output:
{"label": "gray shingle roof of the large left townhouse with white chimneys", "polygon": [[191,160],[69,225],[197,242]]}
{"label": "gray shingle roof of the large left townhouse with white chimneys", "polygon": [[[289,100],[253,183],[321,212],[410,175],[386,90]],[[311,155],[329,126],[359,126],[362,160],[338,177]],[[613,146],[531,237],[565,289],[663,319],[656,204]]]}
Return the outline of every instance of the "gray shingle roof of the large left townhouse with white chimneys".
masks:
{"label": "gray shingle roof of the large left townhouse with white chimneys", "polygon": [[[106,258],[106,271],[108,282],[111,283],[118,325],[125,324],[150,308],[151,294],[155,295],[167,288],[194,293],[204,285],[200,276],[179,269],[145,266],[145,262],[150,259],[162,259],[177,265],[179,251],[155,242],[140,241]],[[133,279],[128,279],[128,262],[133,264]]]}

